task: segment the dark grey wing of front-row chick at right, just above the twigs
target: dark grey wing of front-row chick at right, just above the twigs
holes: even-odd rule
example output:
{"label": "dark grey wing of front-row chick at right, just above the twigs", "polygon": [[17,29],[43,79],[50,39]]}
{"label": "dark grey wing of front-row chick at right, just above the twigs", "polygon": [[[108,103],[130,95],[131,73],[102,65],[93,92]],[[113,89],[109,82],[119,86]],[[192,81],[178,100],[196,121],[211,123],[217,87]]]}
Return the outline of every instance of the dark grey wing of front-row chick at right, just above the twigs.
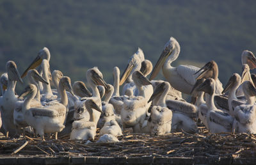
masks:
{"label": "dark grey wing of front-row chick at right, just above the twigs", "polygon": [[232,129],[232,124],[234,118],[230,116],[230,114],[225,113],[223,111],[216,111],[216,110],[211,110],[209,112],[209,119],[210,122],[217,123],[218,125],[222,125],[226,129],[231,130]]}

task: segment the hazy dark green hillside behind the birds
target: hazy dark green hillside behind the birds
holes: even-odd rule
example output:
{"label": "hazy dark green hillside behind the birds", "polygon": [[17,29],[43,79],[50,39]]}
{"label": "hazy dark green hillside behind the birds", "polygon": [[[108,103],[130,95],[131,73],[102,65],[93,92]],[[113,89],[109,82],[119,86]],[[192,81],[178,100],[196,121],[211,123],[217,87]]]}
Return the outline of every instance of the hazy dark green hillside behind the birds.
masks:
{"label": "hazy dark green hillside behind the birds", "polygon": [[[8,60],[20,74],[42,47],[51,70],[72,82],[99,67],[107,83],[128,58],[143,49],[156,63],[170,36],[181,47],[180,63],[202,67],[214,60],[220,80],[241,72],[241,52],[256,51],[256,1],[0,1],[0,72]],[[21,87],[19,87],[21,88]]]}

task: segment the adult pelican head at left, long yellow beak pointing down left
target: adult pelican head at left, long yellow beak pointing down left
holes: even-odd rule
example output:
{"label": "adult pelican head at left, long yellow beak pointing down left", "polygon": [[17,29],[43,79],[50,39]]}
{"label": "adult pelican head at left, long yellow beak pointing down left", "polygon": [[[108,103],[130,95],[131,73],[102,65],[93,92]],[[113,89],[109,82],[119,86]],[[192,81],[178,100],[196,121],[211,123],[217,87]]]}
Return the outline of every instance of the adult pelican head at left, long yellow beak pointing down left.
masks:
{"label": "adult pelican head at left, long yellow beak pointing down left", "polygon": [[43,59],[47,59],[47,61],[49,61],[50,58],[51,58],[51,54],[49,49],[47,47],[44,47],[38,52],[38,55],[36,56],[36,58],[32,61],[29,67],[24,71],[21,77],[22,78],[25,77],[28,70],[38,67],[42,63]]}

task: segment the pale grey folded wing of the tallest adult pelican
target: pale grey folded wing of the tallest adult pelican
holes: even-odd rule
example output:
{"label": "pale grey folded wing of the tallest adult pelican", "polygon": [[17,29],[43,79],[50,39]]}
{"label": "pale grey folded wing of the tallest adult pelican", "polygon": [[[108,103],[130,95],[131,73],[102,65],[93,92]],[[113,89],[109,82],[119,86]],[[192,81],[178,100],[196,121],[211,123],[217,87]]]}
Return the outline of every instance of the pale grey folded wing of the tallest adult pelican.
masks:
{"label": "pale grey folded wing of the tallest adult pelican", "polygon": [[[177,73],[185,79],[188,84],[192,86],[196,83],[196,75],[194,75],[200,68],[191,65],[179,65],[177,68]],[[200,74],[200,73],[198,73]]]}

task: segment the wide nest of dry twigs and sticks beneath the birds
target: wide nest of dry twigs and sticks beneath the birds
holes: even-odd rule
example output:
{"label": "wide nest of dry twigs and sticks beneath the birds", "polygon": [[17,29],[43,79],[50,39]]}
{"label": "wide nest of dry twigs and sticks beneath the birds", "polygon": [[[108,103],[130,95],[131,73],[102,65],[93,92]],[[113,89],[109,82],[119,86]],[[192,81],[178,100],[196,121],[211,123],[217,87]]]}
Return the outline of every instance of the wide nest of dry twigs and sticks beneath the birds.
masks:
{"label": "wide nest of dry twigs and sticks beneath the birds", "polygon": [[101,156],[101,157],[256,157],[254,134],[209,134],[200,127],[199,134],[175,132],[154,136],[134,134],[129,131],[120,136],[118,143],[92,143],[69,140],[68,135],[60,139],[8,139],[0,138],[0,156]]}

